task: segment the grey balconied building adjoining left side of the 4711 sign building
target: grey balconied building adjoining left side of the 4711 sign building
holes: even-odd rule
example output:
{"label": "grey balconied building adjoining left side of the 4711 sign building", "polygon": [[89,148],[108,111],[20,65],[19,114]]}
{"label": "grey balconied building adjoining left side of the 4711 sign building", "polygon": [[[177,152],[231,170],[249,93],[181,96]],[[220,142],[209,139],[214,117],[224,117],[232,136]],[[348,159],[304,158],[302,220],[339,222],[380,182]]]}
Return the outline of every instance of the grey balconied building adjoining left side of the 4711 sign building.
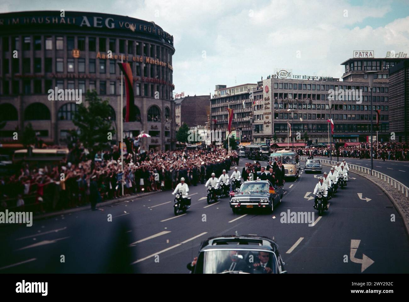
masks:
{"label": "grey balconied building adjoining left side of the 4711 sign building", "polygon": [[[251,141],[253,130],[253,91],[257,84],[243,84],[233,87],[216,85],[214,94],[211,96],[211,130],[222,131],[222,139],[226,139],[228,131],[227,108],[234,109],[234,117],[231,130],[241,131],[241,141]],[[250,98],[251,97],[251,98]]]}

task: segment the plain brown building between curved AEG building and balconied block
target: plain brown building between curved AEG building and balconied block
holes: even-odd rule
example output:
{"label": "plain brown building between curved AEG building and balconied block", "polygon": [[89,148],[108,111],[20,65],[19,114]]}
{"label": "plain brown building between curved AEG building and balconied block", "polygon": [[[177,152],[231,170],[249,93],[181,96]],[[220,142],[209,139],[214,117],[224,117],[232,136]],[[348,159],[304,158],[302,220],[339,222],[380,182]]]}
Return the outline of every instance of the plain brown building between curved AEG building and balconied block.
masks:
{"label": "plain brown building between curved AEG building and balconied block", "polygon": [[209,95],[194,95],[175,99],[176,131],[183,123],[189,127],[205,126],[210,113]]}

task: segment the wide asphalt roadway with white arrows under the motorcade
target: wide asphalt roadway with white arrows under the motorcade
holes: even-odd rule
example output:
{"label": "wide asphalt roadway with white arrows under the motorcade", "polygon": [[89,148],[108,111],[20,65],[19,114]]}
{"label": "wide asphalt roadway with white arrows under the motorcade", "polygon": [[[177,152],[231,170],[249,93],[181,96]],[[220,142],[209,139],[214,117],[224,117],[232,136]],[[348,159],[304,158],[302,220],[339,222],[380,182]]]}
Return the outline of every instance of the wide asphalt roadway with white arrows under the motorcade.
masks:
{"label": "wide asphalt roadway with white arrows under the motorcade", "polygon": [[[190,187],[191,208],[180,216],[174,216],[167,191],[31,227],[2,225],[0,273],[189,273],[186,264],[202,240],[236,232],[274,237],[289,273],[361,273],[362,266],[364,273],[408,273],[409,239],[387,196],[356,176],[319,218],[308,200],[315,176],[288,181],[272,214],[233,214],[228,198],[208,205],[206,188],[198,185]],[[315,222],[281,223],[281,212],[288,210],[313,212]]]}

